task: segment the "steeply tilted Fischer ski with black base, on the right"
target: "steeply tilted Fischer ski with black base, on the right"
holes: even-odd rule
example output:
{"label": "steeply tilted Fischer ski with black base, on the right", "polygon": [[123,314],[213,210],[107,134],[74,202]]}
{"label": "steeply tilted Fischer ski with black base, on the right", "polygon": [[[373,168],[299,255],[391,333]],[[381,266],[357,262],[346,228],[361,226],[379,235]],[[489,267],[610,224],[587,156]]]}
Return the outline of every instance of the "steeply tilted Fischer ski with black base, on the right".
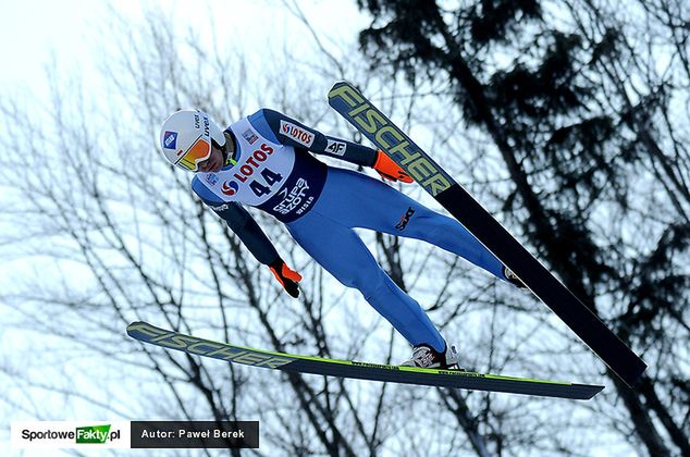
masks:
{"label": "steeply tilted Fischer ski with black base, on the right", "polygon": [[329,104],[448,210],[626,384],[640,379],[644,361],[357,88],[335,84]]}

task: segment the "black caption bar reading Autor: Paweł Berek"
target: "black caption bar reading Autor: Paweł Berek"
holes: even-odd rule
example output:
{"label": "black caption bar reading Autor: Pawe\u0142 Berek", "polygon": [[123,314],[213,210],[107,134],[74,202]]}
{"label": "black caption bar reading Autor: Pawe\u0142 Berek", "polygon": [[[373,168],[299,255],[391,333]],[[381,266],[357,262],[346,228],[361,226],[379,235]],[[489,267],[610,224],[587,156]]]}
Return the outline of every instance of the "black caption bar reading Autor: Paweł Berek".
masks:
{"label": "black caption bar reading Autor: Pawe\u0142 Berek", "polygon": [[258,421],[132,421],[132,448],[259,447]]}

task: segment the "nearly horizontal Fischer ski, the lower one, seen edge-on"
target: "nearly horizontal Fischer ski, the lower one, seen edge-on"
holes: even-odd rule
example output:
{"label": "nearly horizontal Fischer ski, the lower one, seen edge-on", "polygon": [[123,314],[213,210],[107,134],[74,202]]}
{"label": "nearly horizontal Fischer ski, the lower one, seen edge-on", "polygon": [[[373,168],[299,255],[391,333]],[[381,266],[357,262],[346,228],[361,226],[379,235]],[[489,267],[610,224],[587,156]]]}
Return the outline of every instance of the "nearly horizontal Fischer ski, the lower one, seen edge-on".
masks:
{"label": "nearly horizontal Fischer ski, the lower one, seen edge-on", "polygon": [[233,363],[294,373],[570,399],[590,399],[604,388],[602,385],[530,380],[471,371],[433,370],[295,356],[198,338],[163,330],[147,322],[131,323],[127,325],[127,334],[140,342],[167,349],[176,349],[195,356],[211,357]]}

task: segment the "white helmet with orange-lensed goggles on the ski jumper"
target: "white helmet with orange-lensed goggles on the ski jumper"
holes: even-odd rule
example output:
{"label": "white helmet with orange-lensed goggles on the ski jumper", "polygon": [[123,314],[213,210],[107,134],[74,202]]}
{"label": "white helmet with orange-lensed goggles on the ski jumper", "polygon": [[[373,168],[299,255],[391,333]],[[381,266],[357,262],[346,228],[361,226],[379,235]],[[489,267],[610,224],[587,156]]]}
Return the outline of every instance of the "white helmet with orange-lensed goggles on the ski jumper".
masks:
{"label": "white helmet with orange-lensed goggles on the ski jumper", "polygon": [[163,122],[160,144],[165,160],[183,170],[197,171],[199,162],[211,156],[211,141],[225,146],[225,135],[207,113],[186,109]]}

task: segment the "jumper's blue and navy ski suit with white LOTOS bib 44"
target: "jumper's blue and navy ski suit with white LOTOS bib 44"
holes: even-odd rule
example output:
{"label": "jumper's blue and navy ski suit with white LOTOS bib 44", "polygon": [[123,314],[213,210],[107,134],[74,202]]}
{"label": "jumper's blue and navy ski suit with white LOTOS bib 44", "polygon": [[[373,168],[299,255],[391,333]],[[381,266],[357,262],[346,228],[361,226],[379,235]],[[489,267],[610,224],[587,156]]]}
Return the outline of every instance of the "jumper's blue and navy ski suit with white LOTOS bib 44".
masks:
{"label": "jumper's blue and navy ski suit with white LOTOS bib 44", "polygon": [[323,153],[372,166],[377,151],[263,109],[227,127],[235,152],[218,173],[197,173],[192,188],[261,263],[278,251],[242,205],[283,222],[321,267],[367,301],[414,346],[445,343],[420,305],[379,265],[353,228],[422,239],[458,255],[501,280],[503,264],[460,223],[429,210],[380,181],[328,166]]}

